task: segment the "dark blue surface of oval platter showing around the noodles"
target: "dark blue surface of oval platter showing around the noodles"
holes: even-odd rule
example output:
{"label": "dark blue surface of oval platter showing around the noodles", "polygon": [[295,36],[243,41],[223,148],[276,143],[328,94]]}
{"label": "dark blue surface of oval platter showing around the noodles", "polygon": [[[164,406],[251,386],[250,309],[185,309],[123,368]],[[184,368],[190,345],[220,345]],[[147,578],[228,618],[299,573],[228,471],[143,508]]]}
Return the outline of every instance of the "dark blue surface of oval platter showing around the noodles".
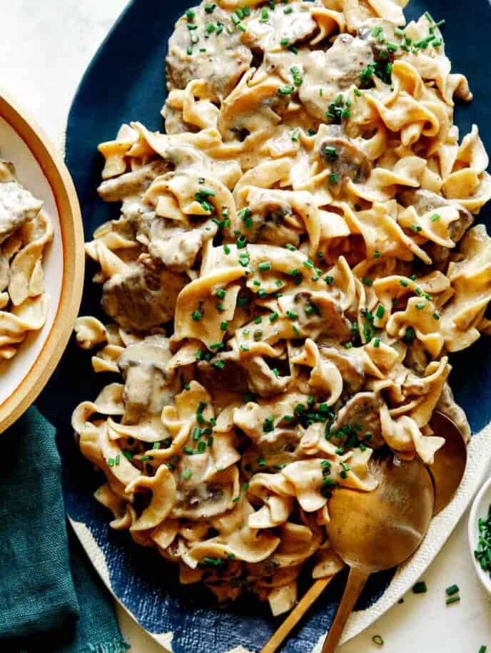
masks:
{"label": "dark blue surface of oval platter showing around the noodles", "polygon": [[[167,42],[174,22],[190,5],[189,0],[130,2],[81,81],[69,115],[66,162],[79,193],[86,237],[101,222],[116,217],[96,192],[102,169],[97,145],[114,138],[121,123],[131,120],[139,120],[152,130],[163,130],[160,110],[166,97]],[[457,106],[456,123],[461,134],[477,123],[482,140],[491,151],[491,6],[487,0],[467,4],[456,0],[412,0],[405,14],[410,20],[424,11],[430,11],[435,19],[446,19],[445,41],[453,69],[465,73],[474,93],[469,106]],[[488,215],[483,210],[479,220],[489,222]],[[81,314],[102,317],[100,294],[91,282],[91,269]],[[452,364],[451,384],[457,401],[465,408],[472,431],[479,433],[491,421],[489,341],[482,338],[470,350],[453,356]],[[111,591],[148,632],[173,633],[172,649],[176,653],[225,653],[238,646],[259,651],[281,622],[281,617],[270,616],[267,604],[250,596],[218,608],[208,590],[199,585],[179,585],[176,569],[158,552],[138,547],[127,533],[108,528],[108,513],[92,496],[101,484],[101,475],[82,458],[70,426],[74,407],[95,397],[107,382],[106,375],[104,379],[93,375],[90,356],[72,341],[38,406],[58,430],[66,510],[72,520],[86,526],[103,552],[108,569],[105,580]],[[448,532],[440,538],[440,546],[460,514],[448,522]],[[430,560],[431,557],[425,564]],[[391,571],[370,579],[359,611],[373,610],[394,574]],[[300,595],[309,582],[307,576],[300,579]],[[330,585],[284,644],[283,651],[313,650],[333,622],[344,582],[345,576],[341,576]],[[376,616],[374,612],[373,618]],[[364,624],[368,622],[365,620]]]}

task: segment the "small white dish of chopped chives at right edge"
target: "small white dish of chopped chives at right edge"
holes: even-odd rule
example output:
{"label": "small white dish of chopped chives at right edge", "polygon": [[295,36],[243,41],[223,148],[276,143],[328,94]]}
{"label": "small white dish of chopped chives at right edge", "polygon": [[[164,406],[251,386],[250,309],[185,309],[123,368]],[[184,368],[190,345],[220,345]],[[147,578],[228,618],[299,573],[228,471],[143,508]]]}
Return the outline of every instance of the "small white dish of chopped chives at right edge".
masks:
{"label": "small white dish of chopped chives at right edge", "polygon": [[476,495],[469,515],[469,546],[475,572],[491,594],[491,478]]}

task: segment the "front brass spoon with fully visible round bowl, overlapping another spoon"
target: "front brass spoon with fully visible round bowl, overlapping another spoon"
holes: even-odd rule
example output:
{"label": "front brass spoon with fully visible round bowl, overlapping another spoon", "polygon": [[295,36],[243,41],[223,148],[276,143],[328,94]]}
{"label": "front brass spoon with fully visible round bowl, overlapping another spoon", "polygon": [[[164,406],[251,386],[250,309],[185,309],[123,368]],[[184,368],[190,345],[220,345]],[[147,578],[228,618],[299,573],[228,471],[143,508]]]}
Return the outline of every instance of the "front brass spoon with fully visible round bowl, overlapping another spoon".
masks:
{"label": "front brass spoon with fully visible round bowl, overlapping another spoon", "polygon": [[376,490],[363,493],[341,488],[329,503],[328,537],[350,567],[348,583],[323,653],[333,653],[348,617],[373,572],[407,560],[426,535],[435,495],[430,474],[416,458],[412,462],[385,459],[370,465]]}

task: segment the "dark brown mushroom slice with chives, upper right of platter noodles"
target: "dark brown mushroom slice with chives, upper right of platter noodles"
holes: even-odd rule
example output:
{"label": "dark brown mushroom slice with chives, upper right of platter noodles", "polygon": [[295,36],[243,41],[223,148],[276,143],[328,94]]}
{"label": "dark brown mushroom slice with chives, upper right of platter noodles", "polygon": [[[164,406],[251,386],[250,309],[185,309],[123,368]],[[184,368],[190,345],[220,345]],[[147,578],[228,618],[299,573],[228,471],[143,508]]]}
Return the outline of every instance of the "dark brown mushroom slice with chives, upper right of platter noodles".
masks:
{"label": "dark brown mushroom slice with chives, upper right of platter noodles", "polygon": [[330,125],[329,135],[320,143],[320,156],[335,178],[331,179],[330,189],[340,192],[345,180],[365,183],[370,177],[372,164],[367,155],[353,140],[343,133],[340,125]]}

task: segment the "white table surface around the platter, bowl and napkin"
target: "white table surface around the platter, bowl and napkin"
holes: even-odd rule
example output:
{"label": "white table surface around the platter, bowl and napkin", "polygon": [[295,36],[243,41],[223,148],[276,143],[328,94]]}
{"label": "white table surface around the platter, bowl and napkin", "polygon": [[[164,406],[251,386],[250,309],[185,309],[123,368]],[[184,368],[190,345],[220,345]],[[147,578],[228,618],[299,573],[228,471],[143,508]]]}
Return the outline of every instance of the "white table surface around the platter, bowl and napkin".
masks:
{"label": "white table surface around the platter, bowl and napkin", "polygon": [[[162,7],[167,0],[162,0]],[[76,86],[126,0],[0,0],[0,88],[29,108],[55,143]],[[138,118],[138,116],[135,116]],[[424,575],[426,595],[405,597],[341,653],[491,653],[491,600],[472,569],[467,546],[467,513]],[[445,606],[445,587],[460,586],[460,604]],[[133,653],[162,651],[118,607]],[[380,634],[383,647],[372,642]],[[190,652],[191,653],[191,652]],[[192,652],[207,653],[207,652]]]}

